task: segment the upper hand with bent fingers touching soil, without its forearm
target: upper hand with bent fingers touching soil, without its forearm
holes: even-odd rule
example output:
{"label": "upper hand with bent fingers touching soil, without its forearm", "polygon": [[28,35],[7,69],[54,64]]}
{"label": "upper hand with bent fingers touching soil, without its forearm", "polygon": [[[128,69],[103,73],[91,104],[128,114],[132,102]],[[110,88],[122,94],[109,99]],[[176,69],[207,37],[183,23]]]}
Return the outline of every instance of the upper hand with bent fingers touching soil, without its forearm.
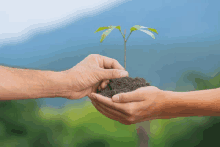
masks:
{"label": "upper hand with bent fingers touching soil, without its forearm", "polygon": [[[113,68],[113,69],[112,69]],[[121,76],[121,72],[125,75]],[[128,72],[115,59],[91,54],[69,70],[62,71],[68,80],[68,99],[80,99],[104,88],[109,79],[128,76]]]}

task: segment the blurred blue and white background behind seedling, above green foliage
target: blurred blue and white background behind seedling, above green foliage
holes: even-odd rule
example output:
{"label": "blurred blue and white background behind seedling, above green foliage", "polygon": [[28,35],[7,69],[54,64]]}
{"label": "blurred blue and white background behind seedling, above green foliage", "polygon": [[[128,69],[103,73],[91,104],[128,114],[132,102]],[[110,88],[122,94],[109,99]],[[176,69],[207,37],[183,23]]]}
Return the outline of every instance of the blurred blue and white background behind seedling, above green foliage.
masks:
{"label": "blurred blue and white background behind seedling, above green foliage", "polygon": [[[113,30],[103,43],[103,31],[94,32],[120,25],[127,38],[132,26],[141,25],[159,34],[156,39],[141,31],[131,34],[126,44],[129,75],[164,90],[177,90],[177,83],[192,89],[179,82],[184,71],[218,72],[219,5],[218,0],[20,0],[13,5],[7,0],[0,5],[0,65],[61,71],[95,53],[124,66],[120,32]],[[47,105],[69,103],[43,100]]]}

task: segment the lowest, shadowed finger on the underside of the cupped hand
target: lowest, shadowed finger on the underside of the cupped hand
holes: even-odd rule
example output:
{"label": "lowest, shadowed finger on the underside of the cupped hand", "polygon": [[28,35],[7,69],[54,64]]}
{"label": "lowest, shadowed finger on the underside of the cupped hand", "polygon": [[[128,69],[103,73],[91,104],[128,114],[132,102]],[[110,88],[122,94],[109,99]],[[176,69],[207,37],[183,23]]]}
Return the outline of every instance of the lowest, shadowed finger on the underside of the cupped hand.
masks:
{"label": "lowest, shadowed finger on the underside of the cupped hand", "polygon": [[103,110],[102,107],[99,106],[99,104],[95,103],[94,101],[92,101],[92,104],[93,104],[94,107],[95,107],[102,115],[104,115],[105,117],[108,117],[108,118],[110,118],[110,119],[112,119],[112,120],[119,121],[119,122],[122,123],[122,124],[127,124],[127,125],[129,124],[129,123],[127,123],[126,121],[124,121],[124,120],[122,120],[122,119],[119,119],[118,117],[112,115],[111,113],[109,113],[109,112],[107,113],[106,111]]}

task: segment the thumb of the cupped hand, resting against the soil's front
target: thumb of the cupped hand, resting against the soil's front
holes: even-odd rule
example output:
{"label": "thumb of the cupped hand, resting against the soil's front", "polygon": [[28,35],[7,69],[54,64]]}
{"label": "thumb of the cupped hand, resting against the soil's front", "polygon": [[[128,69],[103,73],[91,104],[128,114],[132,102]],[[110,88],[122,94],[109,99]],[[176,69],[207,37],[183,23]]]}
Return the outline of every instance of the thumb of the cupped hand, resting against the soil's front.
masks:
{"label": "thumb of the cupped hand, resting against the soil's front", "polygon": [[116,94],[112,97],[112,101],[116,103],[127,103],[127,102],[139,102],[145,100],[143,96],[141,96],[141,91],[131,91],[126,93]]}

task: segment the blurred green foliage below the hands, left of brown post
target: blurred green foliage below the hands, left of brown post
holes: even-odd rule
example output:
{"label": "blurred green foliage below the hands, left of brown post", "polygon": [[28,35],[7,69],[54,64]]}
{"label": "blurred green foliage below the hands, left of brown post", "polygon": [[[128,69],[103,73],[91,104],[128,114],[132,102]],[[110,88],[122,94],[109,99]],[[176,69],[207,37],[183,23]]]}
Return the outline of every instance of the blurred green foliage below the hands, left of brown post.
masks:
{"label": "blurred green foliage below the hands, left of brown post", "polygon": [[90,102],[39,109],[35,100],[0,101],[1,147],[128,146],[138,144],[135,125],[99,113]]}

